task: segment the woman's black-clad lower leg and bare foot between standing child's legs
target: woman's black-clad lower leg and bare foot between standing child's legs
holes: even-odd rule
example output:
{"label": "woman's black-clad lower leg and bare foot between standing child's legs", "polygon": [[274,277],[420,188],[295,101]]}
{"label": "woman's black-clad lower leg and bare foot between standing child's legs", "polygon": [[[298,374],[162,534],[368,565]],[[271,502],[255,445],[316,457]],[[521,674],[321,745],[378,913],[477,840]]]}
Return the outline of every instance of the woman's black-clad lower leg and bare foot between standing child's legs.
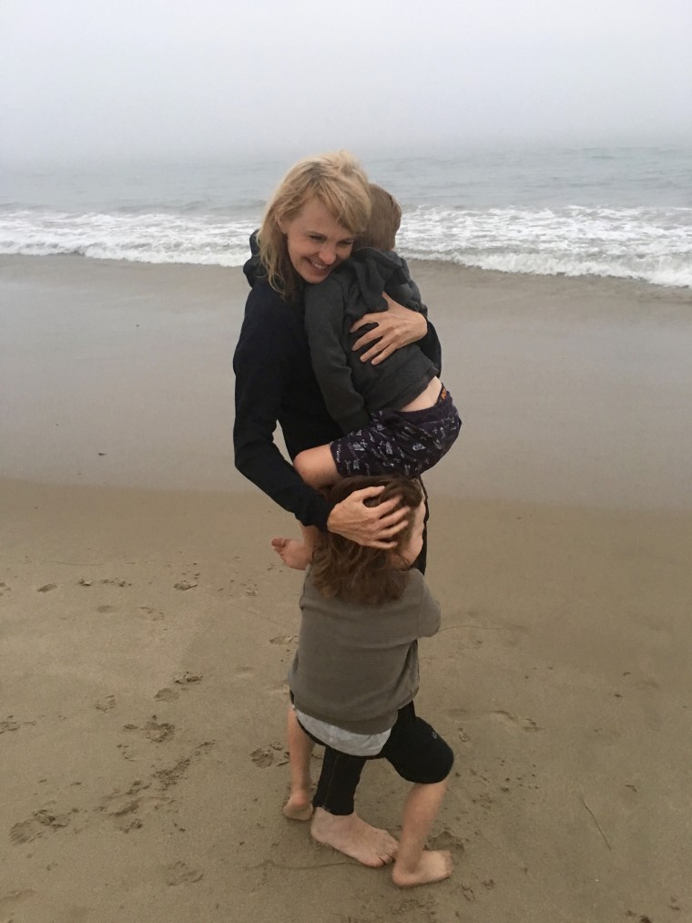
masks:
{"label": "woman's black-clad lower leg and bare foot between standing child's legs", "polygon": [[391,862],[397,841],[386,830],[366,823],[353,806],[364,757],[325,748],[322,772],[313,797],[315,813],[310,833],[318,843],[332,846],[365,866],[376,869]]}

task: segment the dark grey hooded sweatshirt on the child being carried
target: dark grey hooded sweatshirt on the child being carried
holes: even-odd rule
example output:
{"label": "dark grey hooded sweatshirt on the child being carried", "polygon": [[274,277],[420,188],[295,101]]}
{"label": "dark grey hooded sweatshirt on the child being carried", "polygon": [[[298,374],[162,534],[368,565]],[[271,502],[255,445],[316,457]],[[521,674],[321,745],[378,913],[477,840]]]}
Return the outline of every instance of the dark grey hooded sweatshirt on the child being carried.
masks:
{"label": "dark grey hooded sweatshirt on the child being carried", "polygon": [[344,433],[365,426],[369,414],[400,410],[425,390],[440,371],[416,343],[395,350],[374,366],[361,362],[351,332],[364,314],[387,310],[382,293],[427,317],[406,261],[371,247],[356,251],[324,282],[305,289],[305,330],[317,382],[328,413]]}

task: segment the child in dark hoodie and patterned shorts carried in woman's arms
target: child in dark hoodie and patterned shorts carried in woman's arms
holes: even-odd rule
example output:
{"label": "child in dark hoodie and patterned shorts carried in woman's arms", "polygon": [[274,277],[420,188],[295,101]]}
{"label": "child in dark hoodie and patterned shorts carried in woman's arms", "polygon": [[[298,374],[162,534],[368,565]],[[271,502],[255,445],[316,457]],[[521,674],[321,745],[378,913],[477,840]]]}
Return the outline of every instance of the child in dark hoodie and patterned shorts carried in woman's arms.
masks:
{"label": "child in dark hoodie and patterned shorts carried in woman's arms", "polygon": [[[305,292],[305,330],[312,366],[329,414],[345,436],[300,452],[293,466],[306,484],[320,488],[353,474],[399,473],[418,477],[432,468],[459,436],[461,421],[439,369],[415,344],[378,363],[362,362],[352,327],[368,312],[386,310],[386,296],[426,314],[406,261],[392,252],[401,220],[396,199],[370,184],[372,213],[364,246]],[[275,538],[289,567],[304,569],[318,533],[302,527],[303,541]]]}

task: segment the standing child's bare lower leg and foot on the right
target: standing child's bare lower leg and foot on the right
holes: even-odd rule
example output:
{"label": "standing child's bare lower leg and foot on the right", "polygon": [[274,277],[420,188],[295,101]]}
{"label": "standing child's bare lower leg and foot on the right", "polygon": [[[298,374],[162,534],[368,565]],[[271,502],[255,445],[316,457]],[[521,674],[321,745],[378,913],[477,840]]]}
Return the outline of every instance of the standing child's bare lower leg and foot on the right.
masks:
{"label": "standing child's bare lower leg and foot on the right", "polygon": [[400,888],[442,881],[451,874],[451,853],[446,849],[425,849],[446,789],[446,779],[433,785],[416,783],[406,798],[399,851],[391,873],[392,881]]}

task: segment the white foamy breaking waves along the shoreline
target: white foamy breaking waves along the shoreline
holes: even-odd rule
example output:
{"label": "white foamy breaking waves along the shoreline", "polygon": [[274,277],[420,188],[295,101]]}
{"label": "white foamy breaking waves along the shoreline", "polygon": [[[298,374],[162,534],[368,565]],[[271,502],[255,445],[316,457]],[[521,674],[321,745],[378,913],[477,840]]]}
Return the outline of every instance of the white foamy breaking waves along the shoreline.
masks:
{"label": "white foamy breaking waves along the shoreline", "polygon": [[[197,203],[195,203],[197,206]],[[242,266],[250,217],[185,211],[0,210],[0,253]],[[404,215],[406,258],[535,275],[596,275],[692,287],[692,209],[459,209]]]}

